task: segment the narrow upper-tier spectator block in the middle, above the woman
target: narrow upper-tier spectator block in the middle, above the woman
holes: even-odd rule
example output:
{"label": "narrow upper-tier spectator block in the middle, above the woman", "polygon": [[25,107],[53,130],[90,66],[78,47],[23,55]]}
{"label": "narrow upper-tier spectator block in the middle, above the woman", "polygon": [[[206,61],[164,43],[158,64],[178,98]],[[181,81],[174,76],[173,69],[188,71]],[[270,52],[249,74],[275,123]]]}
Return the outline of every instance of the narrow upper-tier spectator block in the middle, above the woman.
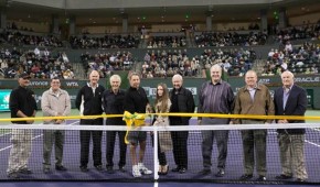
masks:
{"label": "narrow upper-tier spectator block in the middle, above the woman", "polygon": [[147,48],[175,48],[185,46],[185,36],[150,36]]}

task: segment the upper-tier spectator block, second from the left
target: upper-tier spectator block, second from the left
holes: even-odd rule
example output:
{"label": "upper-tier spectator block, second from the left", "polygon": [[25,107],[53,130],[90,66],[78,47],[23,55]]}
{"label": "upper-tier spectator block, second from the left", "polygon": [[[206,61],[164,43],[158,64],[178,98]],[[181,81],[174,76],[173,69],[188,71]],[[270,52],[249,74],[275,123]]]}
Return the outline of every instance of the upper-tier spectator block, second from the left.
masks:
{"label": "upper-tier spectator block, second from the left", "polygon": [[94,37],[84,34],[83,36],[71,36],[70,43],[73,48],[138,48],[139,35],[105,35]]}

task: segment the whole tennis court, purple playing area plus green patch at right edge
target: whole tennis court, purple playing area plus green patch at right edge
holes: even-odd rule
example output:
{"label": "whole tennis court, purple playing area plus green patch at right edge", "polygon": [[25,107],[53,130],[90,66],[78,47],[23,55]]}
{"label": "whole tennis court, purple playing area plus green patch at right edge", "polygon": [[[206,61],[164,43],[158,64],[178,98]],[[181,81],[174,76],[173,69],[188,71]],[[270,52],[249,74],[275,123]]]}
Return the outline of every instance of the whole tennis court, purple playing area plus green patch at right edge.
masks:
{"label": "whole tennis court, purple playing area plus green patch at right edge", "polygon": [[[308,111],[307,116],[316,116],[319,111]],[[317,122],[317,121],[309,121]],[[192,124],[195,124],[195,119],[191,120]],[[68,121],[71,125],[77,125],[78,121],[71,120]],[[307,162],[307,172],[309,174],[308,182],[310,183],[319,183],[319,169],[320,163],[318,156],[320,155],[320,140],[319,140],[320,131],[314,128],[307,129],[306,133],[306,144],[305,144],[305,155]],[[145,164],[150,167],[152,170],[154,165],[153,160],[153,148],[151,146],[150,136],[148,136],[148,145],[146,152]],[[10,152],[11,143],[10,143],[10,133],[3,133],[0,136],[0,179],[2,182],[7,180],[7,166],[8,166],[8,156]],[[103,163],[105,164],[105,151],[106,151],[106,135],[103,138]],[[212,155],[212,169],[213,174],[216,172],[216,145],[214,144],[213,155]],[[118,150],[116,146],[115,151],[115,167],[118,162]],[[167,176],[160,176],[159,184],[154,184],[153,175],[143,176],[140,179],[135,179],[131,176],[131,165],[129,160],[129,154],[127,152],[127,173],[116,172],[116,174],[107,174],[106,172],[98,172],[94,169],[92,163],[88,164],[88,168],[90,170],[88,173],[82,173],[78,168],[79,166],[79,135],[78,131],[66,131],[65,135],[65,147],[64,147],[64,166],[68,168],[67,172],[55,172],[53,169],[52,174],[43,174],[42,170],[42,131],[34,130],[33,132],[33,146],[32,146],[32,156],[30,158],[29,167],[33,170],[32,175],[22,176],[22,180],[45,180],[42,186],[55,186],[63,185],[64,180],[71,180],[73,183],[67,183],[68,186],[102,186],[106,185],[103,182],[108,182],[107,185],[111,186],[209,186],[211,183],[220,183],[222,186],[241,186],[242,184],[235,184],[238,177],[243,174],[243,158],[242,158],[242,142],[238,131],[230,131],[230,141],[228,141],[228,155],[226,162],[226,175],[223,178],[217,178],[214,175],[200,176],[198,173],[202,169],[202,154],[201,154],[201,133],[200,131],[190,132],[189,135],[189,169],[185,174],[175,174],[169,173]],[[168,162],[171,168],[175,167],[173,162],[172,153],[168,153]],[[92,158],[89,160],[92,161]],[[52,156],[52,163],[54,163],[54,157]],[[268,140],[267,140],[267,179],[268,182],[275,182],[275,184],[281,184],[275,180],[275,176],[279,175],[280,163],[279,163],[279,153],[278,153],[278,143],[276,139],[275,130],[268,130]],[[47,183],[54,180],[55,183]],[[89,182],[89,183],[81,183],[81,182]],[[100,182],[100,183],[92,183],[92,182]],[[117,182],[117,183],[113,183]],[[118,183],[121,182],[121,183]],[[126,183],[126,182],[139,182],[139,183]],[[179,182],[179,183],[177,183]],[[198,182],[198,183],[194,183]],[[206,184],[207,183],[207,184]],[[29,183],[20,183],[17,182],[14,184],[10,184],[9,182],[2,183],[3,185],[32,185],[35,186],[38,183],[29,182]],[[1,186],[2,186],[1,184]],[[114,185],[115,184],[115,185]],[[201,184],[201,185],[199,185]],[[255,182],[252,184],[258,185]],[[243,184],[247,185],[247,184]],[[7,186],[6,186],[7,187]]]}

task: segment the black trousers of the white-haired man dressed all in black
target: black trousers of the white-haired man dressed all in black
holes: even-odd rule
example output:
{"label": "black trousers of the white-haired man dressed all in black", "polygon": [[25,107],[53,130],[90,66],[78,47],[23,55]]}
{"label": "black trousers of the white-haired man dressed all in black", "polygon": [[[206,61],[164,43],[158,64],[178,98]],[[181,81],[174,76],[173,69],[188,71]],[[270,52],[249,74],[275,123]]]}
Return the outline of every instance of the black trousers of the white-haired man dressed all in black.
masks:
{"label": "black trousers of the white-haired man dressed all in black", "polygon": [[126,154],[127,154],[127,144],[125,143],[126,131],[107,131],[107,166],[114,166],[114,152],[115,152],[115,144],[116,144],[116,135],[118,133],[119,139],[119,167],[126,165]]}

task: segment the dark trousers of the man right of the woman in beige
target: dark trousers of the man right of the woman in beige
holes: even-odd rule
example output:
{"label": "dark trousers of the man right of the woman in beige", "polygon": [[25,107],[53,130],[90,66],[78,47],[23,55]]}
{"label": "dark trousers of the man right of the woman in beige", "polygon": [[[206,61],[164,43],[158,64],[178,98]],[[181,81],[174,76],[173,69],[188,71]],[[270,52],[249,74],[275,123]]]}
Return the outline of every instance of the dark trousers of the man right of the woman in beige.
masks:
{"label": "dark trousers of the man right of the woman in beige", "polygon": [[172,131],[173,157],[178,167],[188,168],[188,131]]}

